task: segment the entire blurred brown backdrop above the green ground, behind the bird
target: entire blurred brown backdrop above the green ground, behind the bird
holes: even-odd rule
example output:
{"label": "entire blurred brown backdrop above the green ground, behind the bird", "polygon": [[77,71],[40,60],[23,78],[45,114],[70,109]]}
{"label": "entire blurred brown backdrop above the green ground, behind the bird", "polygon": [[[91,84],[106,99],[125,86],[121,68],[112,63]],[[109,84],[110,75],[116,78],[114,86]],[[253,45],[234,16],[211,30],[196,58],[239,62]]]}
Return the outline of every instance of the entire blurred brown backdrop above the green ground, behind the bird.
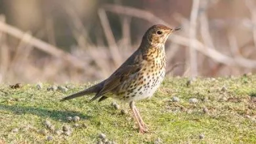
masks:
{"label": "entire blurred brown backdrop above the green ground, behind the bird", "polygon": [[255,71],[255,0],[0,0],[0,83],[106,79],[153,24],[182,26],[167,77]]}

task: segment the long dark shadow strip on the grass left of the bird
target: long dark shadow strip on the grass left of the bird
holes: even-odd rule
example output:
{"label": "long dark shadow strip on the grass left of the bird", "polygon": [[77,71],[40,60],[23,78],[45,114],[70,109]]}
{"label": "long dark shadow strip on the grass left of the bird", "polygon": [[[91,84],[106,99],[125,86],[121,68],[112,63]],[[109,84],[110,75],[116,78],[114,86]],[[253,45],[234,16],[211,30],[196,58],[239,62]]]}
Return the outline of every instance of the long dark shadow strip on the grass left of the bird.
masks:
{"label": "long dark shadow strip on the grass left of the bird", "polygon": [[0,109],[3,111],[11,111],[16,115],[23,114],[32,114],[38,115],[43,118],[52,118],[54,120],[63,120],[66,121],[66,117],[74,117],[78,116],[80,118],[90,118],[89,115],[84,115],[83,113],[79,113],[77,111],[58,111],[58,110],[49,110],[41,107],[28,107],[21,105],[3,105],[0,104]]}

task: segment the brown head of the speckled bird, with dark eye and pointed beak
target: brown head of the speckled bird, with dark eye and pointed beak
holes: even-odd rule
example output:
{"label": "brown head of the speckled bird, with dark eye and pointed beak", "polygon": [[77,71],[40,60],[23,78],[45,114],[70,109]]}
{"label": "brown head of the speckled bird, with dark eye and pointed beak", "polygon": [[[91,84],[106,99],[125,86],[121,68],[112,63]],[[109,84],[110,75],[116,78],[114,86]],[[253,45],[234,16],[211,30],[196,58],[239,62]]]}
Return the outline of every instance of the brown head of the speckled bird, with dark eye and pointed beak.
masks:
{"label": "brown head of the speckled bird, with dark eye and pointed beak", "polygon": [[143,36],[142,43],[150,43],[150,45],[159,45],[159,44],[165,44],[165,41],[167,40],[168,36],[181,29],[180,27],[176,27],[174,29],[171,29],[170,27],[163,26],[160,24],[154,25],[146,31],[146,33]]}

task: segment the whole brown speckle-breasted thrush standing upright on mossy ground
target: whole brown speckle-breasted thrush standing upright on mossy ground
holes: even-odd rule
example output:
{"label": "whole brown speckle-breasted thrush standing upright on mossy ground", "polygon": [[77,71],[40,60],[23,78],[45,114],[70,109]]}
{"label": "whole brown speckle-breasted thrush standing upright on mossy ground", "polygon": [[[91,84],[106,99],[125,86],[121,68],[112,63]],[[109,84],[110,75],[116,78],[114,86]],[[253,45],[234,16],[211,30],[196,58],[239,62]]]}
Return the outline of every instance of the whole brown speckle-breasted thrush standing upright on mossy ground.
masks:
{"label": "whole brown speckle-breasted thrush standing upright on mossy ground", "polygon": [[171,33],[179,29],[161,24],[151,26],[144,33],[139,48],[110,77],[60,101],[95,94],[90,102],[114,98],[129,103],[139,132],[148,132],[135,101],[151,98],[160,86],[165,77],[165,42]]}

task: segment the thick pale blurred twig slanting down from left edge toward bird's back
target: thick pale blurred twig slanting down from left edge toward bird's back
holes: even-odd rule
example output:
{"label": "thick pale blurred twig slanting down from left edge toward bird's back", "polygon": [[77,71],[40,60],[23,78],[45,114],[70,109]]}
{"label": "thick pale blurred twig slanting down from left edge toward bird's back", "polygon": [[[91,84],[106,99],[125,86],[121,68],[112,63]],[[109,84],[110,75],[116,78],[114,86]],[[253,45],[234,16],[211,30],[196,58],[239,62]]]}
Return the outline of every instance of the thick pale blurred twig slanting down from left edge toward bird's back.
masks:
{"label": "thick pale blurred twig slanting down from left edge toward bird's back", "polygon": [[[3,22],[0,22],[0,31],[9,33],[9,35],[17,37],[18,39],[22,39],[22,37],[24,37],[25,35],[23,31],[20,31],[20,29],[10,26],[8,24],[5,24]],[[62,58],[63,60],[70,62],[72,65],[74,65],[74,67],[77,67],[79,69],[85,68],[85,63],[81,62],[74,56],[68,54],[68,52],[64,52],[63,50],[60,50],[59,48],[56,48],[53,45],[49,45],[48,43],[45,43],[40,39],[37,39],[31,36],[31,39],[29,41],[24,39],[24,42],[29,43],[30,45],[35,46],[39,50],[42,50],[43,52],[47,52],[48,54],[51,54],[56,58]]]}

